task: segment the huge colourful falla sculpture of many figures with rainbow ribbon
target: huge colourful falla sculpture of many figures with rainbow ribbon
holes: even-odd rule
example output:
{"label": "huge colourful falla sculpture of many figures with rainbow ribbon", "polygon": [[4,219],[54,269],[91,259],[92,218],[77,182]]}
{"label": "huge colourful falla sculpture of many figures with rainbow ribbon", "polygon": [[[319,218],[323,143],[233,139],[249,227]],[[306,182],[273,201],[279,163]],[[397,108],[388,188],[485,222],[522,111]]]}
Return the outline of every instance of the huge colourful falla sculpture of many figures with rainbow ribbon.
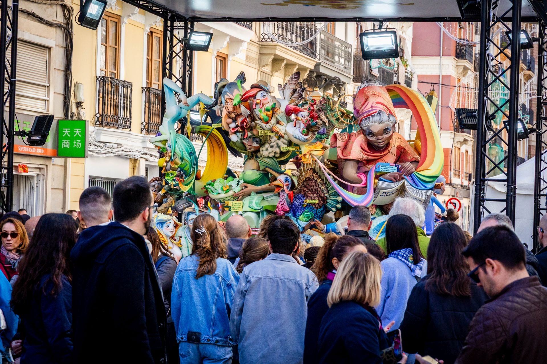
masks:
{"label": "huge colourful falla sculpture of many figures with rainbow ribbon", "polygon": [[[151,183],[164,214],[178,214],[182,199],[199,197],[220,223],[238,213],[256,229],[267,214],[281,214],[307,230],[325,214],[340,215],[355,205],[373,206],[375,216],[387,213],[382,206],[400,195],[429,204],[444,160],[434,112],[422,94],[368,80],[344,100],[317,90],[307,96],[299,72],[278,85],[277,95],[263,80],[246,83],[241,72],[233,81],[217,82],[212,98],[187,98],[174,82],[164,80],[167,111],[160,132],[150,139],[164,156],[159,160],[163,176]],[[196,105],[202,105],[211,123],[190,126],[184,120]],[[398,108],[411,110],[418,125],[414,140],[397,133]],[[188,139],[190,129],[203,135],[208,146],[203,171]],[[227,168],[228,151],[244,158],[237,174]],[[296,175],[284,168],[289,162],[298,168]],[[183,231],[192,214],[178,215],[173,221],[182,221]],[[335,225],[327,231],[340,230]],[[165,235],[174,240],[166,244],[177,246],[182,235],[178,241]]]}

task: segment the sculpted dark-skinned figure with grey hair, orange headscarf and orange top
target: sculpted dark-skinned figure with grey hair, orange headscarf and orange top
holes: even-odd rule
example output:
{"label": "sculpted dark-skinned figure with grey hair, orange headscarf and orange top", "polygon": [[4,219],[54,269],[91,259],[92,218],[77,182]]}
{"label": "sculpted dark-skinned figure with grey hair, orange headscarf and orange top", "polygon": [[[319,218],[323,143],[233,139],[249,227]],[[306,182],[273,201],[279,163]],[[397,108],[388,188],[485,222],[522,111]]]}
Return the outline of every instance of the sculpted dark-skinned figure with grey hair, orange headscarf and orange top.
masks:
{"label": "sculpted dark-skinned figure with grey hair, orange headscarf and orange top", "polygon": [[[330,147],[336,148],[341,177],[360,184],[360,175],[366,175],[379,162],[399,165],[398,172],[382,176],[389,181],[400,181],[415,172],[420,157],[402,135],[393,131],[397,118],[386,88],[373,80],[366,81],[353,96],[353,108],[360,129],[334,134],[330,142]],[[364,187],[348,185],[347,190],[366,193]]]}

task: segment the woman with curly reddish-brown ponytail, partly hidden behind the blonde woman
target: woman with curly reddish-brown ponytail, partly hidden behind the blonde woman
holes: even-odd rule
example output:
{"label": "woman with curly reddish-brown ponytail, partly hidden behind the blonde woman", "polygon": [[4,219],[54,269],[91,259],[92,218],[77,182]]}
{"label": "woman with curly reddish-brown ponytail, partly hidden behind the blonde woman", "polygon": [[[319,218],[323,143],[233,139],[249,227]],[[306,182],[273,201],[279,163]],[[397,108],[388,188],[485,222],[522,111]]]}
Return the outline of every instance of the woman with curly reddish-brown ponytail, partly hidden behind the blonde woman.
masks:
{"label": "woman with curly reddish-brown ponytail, partly hidden behind the blonde woman", "polygon": [[308,301],[306,333],[304,336],[304,364],[319,361],[317,357],[319,328],[323,316],[329,310],[327,296],[330,287],[344,256],[356,251],[366,253],[365,244],[358,238],[351,235],[339,236],[332,232],[325,235],[324,244],[319,249],[315,263],[311,268],[321,285]]}

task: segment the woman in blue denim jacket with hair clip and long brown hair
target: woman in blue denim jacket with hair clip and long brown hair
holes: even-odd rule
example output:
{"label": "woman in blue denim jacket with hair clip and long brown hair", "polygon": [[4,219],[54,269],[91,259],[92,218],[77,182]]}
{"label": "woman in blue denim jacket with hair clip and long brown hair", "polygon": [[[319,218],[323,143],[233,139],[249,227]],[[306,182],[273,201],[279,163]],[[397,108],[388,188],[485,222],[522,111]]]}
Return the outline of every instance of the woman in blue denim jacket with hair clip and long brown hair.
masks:
{"label": "woman in blue denim jacket with hair clip and long brown hair", "polygon": [[226,257],[226,237],[210,214],[192,225],[192,254],[173,279],[171,315],[181,364],[231,363],[230,311],[239,275]]}

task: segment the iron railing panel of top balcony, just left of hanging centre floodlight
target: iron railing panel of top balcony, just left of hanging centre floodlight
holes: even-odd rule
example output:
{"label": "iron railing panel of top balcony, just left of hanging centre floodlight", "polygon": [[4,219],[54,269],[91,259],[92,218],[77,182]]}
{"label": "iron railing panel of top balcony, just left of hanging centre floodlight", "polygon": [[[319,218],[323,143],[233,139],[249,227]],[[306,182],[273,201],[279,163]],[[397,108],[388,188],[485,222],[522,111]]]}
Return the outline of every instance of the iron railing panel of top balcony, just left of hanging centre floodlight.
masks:
{"label": "iron railing panel of top balcony, just left of hanging centre floodlight", "polygon": [[327,63],[346,73],[351,73],[351,44],[336,38],[327,31],[319,33],[318,61]]}

